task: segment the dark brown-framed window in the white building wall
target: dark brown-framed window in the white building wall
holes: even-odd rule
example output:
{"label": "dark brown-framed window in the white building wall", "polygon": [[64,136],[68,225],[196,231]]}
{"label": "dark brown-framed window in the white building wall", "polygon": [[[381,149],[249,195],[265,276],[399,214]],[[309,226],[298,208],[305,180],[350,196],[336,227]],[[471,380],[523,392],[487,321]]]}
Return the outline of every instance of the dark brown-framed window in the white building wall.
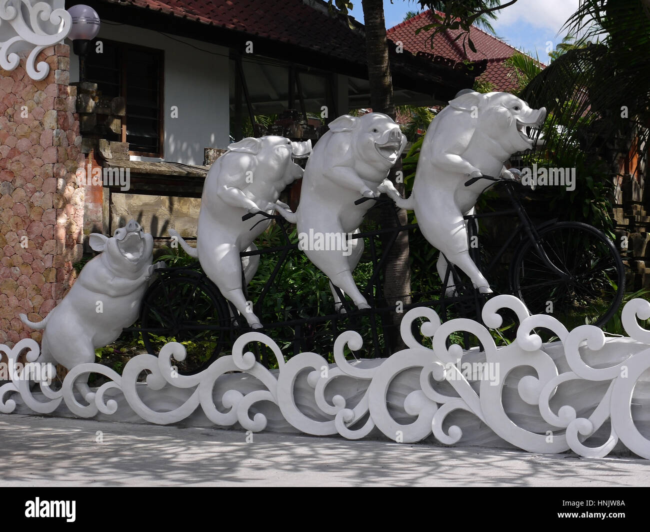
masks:
{"label": "dark brown-framed window in the white building wall", "polygon": [[84,81],[97,83],[103,98],[125,97],[121,141],[133,155],[162,157],[162,50],[98,40],[89,48]]}

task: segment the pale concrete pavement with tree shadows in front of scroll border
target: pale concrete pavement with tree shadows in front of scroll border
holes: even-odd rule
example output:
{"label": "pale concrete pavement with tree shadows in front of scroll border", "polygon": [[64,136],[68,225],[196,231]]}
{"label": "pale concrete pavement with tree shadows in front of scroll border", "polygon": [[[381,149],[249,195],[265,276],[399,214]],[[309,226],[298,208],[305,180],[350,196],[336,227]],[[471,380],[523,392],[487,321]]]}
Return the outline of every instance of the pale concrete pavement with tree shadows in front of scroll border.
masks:
{"label": "pale concrete pavement with tree shadows in front of scroll border", "polygon": [[0,449],[1,486],[650,485],[642,459],[277,433],[246,442],[244,431],[19,414],[0,415]]}

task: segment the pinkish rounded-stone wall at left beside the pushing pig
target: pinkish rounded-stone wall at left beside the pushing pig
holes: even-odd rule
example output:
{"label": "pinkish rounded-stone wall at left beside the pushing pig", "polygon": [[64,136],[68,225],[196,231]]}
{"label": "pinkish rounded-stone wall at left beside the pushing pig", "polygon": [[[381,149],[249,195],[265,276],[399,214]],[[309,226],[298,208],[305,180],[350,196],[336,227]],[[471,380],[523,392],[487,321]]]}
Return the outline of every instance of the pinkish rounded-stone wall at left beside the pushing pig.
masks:
{"label": "pinkish rounded-stone wall at left beside the pushing pig", "polygon": [[[40,321],[75,279],[83,254],[83,163],[70,48],[38,57],[49,75],[35,82],[18,66],[0,69],[0,344],[40,341],[18,315]],[[25,238],[26,237],[26,238]]]}

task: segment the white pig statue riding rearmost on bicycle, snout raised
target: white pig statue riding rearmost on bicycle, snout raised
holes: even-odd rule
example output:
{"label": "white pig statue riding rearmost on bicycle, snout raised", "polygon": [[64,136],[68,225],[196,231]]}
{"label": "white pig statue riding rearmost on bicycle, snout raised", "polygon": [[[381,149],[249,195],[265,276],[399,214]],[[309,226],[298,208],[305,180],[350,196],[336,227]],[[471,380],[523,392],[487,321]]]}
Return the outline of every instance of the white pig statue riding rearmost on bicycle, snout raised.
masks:
{"label": "white pig statue riding rearmost on bicycle, snout raised", "polygon": [[[302,168],[292,158],[307,157],[311,140],[291,142],[282,136],[244,138],[228,146],[208,171],[199,212],[196,248],[170,230],[191,257],[198,257],[203,272],[246,318],[252,329],[262,324],[248,305],[242,290],[242,260],[239,253],[257,249],[253,240],[263,233],[270,220],[249,212],[268,212],[289,207],[280,201],[280,192],[302,177]],[[261,221],[261,223],[260,223]],[[254,227],[254,228],[253,228]],[[249,283],[259,264],[256,255],[243,261]]]}

